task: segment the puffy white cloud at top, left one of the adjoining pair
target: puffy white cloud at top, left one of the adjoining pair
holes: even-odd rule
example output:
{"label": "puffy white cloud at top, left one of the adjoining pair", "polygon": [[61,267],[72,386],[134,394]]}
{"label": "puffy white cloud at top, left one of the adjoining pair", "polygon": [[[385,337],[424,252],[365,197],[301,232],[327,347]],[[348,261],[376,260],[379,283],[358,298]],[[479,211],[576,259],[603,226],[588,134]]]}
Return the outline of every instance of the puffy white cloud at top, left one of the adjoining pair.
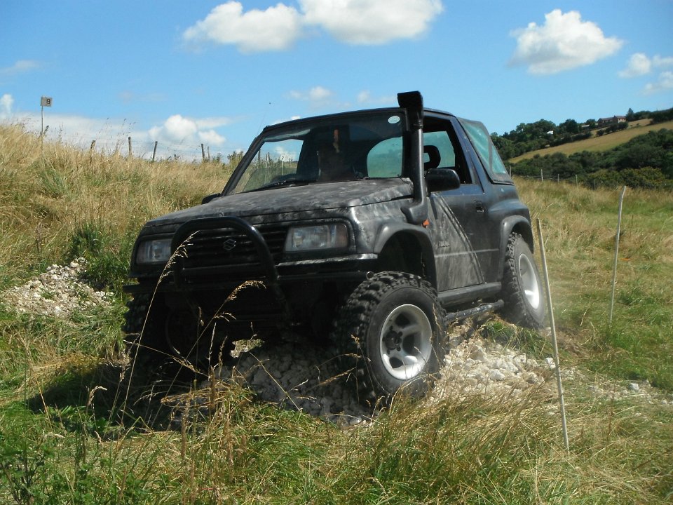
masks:
{"label": "puffy white cloud at top, left one of the adjoining pair", "polygon": [[243,12],[238,1],[229,1],[210,11],[204,20],[184,32],[183,39],[233,44],[243,53],[290,48],[301,35],[301,16],[296,9],[277,4],[266,11]]}

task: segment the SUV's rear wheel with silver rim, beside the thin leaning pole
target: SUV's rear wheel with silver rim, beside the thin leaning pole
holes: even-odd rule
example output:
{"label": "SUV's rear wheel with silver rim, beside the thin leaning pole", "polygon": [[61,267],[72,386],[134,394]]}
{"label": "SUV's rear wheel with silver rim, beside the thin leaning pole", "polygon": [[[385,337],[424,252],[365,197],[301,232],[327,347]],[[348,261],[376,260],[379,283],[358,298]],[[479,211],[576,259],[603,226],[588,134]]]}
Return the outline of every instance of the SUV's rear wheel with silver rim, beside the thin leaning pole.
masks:
{"label": "SUV's rear wheel with silver rim, beside the thin leaning pole", "polygon": [[502,297],[507,321],[526,328],[543,327],[545,300],[538,267],[528,244],[516,233],[510,235],[505,251]]}

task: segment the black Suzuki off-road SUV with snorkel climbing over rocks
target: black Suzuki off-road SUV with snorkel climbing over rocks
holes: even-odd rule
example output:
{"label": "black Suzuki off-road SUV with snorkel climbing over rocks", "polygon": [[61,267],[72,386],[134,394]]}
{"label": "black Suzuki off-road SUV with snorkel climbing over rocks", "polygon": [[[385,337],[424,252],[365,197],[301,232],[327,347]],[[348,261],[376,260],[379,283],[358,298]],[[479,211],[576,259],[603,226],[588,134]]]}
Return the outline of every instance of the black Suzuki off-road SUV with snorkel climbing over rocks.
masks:
{"label": "black Suzuki off-road SUV with snorkel climbing over rocks", "polygon": [[541,327],[529,210],[489,132],[397,98],[268,126],[222,193],[147,222],[129,342],[198,362],[303,331],[389,396],[423,391],[447,323],[493,310]]}

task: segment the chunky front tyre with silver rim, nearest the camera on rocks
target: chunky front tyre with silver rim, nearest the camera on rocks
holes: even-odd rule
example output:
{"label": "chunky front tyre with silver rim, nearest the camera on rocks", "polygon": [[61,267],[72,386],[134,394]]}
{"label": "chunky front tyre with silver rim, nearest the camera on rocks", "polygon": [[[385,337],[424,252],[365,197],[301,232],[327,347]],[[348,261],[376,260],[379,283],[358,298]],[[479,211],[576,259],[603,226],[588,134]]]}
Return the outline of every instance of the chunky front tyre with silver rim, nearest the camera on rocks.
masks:
{"label": "chunky front tyre with silver rim, nearest the camera on rocks", "polygon": [[390,398],[402,389],[426,393],[440,369],[445,313],[430,283],[401,272],[381,272],[356,288],[341,308],[338,338],[355,356],[360,400]]}

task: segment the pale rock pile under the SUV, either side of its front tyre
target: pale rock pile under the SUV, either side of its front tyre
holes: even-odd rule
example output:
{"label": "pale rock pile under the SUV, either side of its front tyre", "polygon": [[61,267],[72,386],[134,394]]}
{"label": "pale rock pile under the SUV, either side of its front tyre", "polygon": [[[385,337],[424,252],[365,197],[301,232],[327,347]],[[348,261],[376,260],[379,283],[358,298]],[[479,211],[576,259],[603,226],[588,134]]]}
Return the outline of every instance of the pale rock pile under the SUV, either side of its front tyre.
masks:
{"label": "pale rock pile under the SUV, either side of its front tyre", "polygon": [[[340,426],[352,426],[372,417],[355,398],[348,384],[350,370],[334,358],[334,351],[318,346],[278,344],[244,353],[233,366],[217,370],[217,379],[236,380],[257,397],[322,417]],[[552,362],[553,364],[553,362]],[[481,338],[457,344],[444,358],[440,379],[430,400],[451,395],[519,396],[531,386],[543,384],[550,364],[538,363],[525,354]],[[212,384],[205,382],[204,389]]]}

